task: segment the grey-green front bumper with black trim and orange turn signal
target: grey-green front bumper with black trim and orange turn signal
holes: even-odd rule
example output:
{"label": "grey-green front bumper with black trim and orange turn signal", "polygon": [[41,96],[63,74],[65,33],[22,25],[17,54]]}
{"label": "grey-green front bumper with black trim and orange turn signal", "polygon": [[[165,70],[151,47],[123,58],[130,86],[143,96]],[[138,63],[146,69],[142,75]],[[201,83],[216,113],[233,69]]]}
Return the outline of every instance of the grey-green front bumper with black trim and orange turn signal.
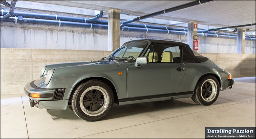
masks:
{"label": "grey-green front bumper with black trim and orange turn signal", "polygon": [[[26,84],[24,90],[25,94],[29,98],[30,107],[34,105],[37,108],[46,108],[46,109],[58,109],[66,110],[68,107],[68,97],[65,96],[66,91],[71,89],[45,89],[37,87],[34,84],[35,81],[29,82]],[[31,97],[31,93],[39,94],[39,98]],[[66,93],[67,94],[67,93]]]}

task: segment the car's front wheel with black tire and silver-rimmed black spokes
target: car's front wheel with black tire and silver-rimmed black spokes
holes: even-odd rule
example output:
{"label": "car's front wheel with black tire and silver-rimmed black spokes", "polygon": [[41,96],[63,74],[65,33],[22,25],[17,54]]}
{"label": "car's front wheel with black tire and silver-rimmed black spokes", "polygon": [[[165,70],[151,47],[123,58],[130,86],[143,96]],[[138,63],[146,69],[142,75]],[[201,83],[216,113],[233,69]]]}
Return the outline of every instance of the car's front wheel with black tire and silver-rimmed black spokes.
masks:
{"label": "car's front wheel with black tire and silver-rimmed black spokes", "polygon": [[71,106],[75,114],[86,121],[103,119],[113,106],[112,89],[100,80],[89,80],[80,84],[72,97]]}

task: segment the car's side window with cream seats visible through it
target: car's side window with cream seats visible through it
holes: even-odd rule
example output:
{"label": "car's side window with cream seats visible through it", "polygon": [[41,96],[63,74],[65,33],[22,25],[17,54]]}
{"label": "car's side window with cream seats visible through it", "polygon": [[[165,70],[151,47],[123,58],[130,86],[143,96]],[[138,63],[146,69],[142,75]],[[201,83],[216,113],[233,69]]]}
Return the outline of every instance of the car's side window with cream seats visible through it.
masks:
{"label": "car's side window with cream seats visible through it", "polygon": [[151,44],[144,56],[151,63],[181,62],[181,49],[169,44]]}

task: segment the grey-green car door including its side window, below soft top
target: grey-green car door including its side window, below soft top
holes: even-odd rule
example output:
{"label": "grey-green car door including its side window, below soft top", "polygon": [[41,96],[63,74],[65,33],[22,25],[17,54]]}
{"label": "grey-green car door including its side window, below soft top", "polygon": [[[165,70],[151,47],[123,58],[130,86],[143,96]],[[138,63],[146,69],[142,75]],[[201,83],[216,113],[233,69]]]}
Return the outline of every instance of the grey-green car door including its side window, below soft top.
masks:
{"label": "grey-green car door including its side window, below soft top", "polygon": [[[185,64],[181,63],[179,46],[154,44],[145,56],[149,63],[127,68],[127,97],[144,97],[175,93],[180,88],[185,73]],[[164,61],[163,53],[172,51],[172,58]],[[152,54],[153,53],[153,54]],[[151,59],[152,58],[152,59]]]}

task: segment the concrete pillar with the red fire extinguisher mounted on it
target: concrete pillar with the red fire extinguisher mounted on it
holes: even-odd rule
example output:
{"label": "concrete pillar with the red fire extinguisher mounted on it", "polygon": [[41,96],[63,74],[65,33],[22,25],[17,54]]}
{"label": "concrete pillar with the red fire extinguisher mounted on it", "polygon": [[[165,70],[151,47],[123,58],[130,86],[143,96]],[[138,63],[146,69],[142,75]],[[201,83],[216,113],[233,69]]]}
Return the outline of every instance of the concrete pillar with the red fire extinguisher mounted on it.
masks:
{"label": "concrete pillar with the red fire extinguisher mounted on it", "polygon": [[[194,41],[193,37],[194,37],[194,35],[197,35],[197,23],[198,23],[198,21],[189,21],[188,22],[188,38],[187,38],[188,42],[187,43],[192,50],[194,50],[194,45],[195,45],[195,41]],[[194,38],[196,39],[197,36],[195,36]],[[199,45],[199,49],[200,49],[200,45]]]}

